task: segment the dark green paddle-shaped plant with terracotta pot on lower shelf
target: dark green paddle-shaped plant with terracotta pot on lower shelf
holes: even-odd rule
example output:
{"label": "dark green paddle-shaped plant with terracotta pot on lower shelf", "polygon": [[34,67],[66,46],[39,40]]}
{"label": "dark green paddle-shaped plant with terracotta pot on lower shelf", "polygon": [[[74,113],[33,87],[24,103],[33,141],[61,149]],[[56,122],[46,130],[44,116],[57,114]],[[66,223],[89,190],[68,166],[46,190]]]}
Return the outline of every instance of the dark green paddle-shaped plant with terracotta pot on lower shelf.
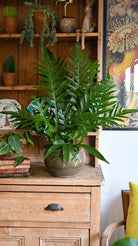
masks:
{"label": "dark green paddle-shaped plant with terracotta pot on lower shelf", "polygon": [[15,82],[16,64],[13,55],[6,57],[3,66],[3,84],[5,86],[12,86]]}

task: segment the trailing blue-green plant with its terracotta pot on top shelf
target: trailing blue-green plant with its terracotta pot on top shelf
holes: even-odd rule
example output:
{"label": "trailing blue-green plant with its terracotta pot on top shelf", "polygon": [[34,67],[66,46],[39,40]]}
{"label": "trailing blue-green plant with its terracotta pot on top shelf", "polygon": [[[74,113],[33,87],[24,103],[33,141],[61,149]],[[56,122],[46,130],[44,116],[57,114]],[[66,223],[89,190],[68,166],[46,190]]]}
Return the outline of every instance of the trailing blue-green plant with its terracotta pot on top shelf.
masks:
{"label": "trailing blue-green plant with its terracotta pot on top shelf", "polygon": [[40,34],[41,55],[45,39],[48,40],[47,46],[53,45],[56,41],[56,22],[57,17],[55,12],[49,5],[42,6],[38,4],[38,0],[34,2],[24,2],[24,5],[30,8],[26,13],[24,21],[24,30],[21,33],[20,44],[26,37],[31,47],[33,47],[34,34]]}

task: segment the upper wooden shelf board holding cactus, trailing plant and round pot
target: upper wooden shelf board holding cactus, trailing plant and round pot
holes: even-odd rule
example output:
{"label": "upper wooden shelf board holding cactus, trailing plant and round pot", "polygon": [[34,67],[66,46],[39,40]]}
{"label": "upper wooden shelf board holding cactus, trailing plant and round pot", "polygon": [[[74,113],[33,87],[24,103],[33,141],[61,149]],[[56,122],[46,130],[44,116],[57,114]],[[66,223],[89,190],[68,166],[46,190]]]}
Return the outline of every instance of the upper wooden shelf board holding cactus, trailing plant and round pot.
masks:
{"label": "upper wooden shelf board holding cactus, trailing plant and round pot", "polygon": [[[81,32],[77,33],[56,33],[57,38],[75,38],[77,35],[80,37],[82,36]],[[91,32],[91,33],[86,33],[85,32],[85,37],[99,37],[101,34],[99,32]],[[21,34],[0,34],[0,38],[20,38]],[[39,34],[35,34],[34,37],[39,38]]]}

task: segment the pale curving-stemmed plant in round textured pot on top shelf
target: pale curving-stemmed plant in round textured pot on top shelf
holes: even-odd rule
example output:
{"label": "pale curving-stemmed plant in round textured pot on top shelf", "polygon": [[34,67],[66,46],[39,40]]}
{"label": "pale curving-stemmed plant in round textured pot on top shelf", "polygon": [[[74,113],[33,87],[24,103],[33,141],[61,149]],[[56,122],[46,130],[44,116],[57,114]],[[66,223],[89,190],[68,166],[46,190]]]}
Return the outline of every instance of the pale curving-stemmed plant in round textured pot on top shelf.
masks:
{"label": "pale curving-stemmed plant in round textured pot on top shelf", "polygon": [[56,4],[58,2],[65,2],[64,5],[64,16],[61,18],[59,22],[59,28],[61,32],[75,32],[76,30],[76,24],[75,19],[73,17],[67,16],[67,6],[71,3],[73,3],[73,0],[57,0]]}

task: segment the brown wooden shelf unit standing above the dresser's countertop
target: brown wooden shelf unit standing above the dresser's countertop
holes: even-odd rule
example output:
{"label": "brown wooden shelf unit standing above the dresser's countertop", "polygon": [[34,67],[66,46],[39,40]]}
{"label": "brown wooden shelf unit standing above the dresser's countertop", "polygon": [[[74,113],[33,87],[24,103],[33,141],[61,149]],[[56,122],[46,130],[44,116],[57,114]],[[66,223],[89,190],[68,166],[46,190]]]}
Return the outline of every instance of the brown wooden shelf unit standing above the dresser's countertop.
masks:
{"label": "brown wooden shelf unit standing above the dresser's countertop", "polygon": [[[56,57],[66,57],[68,59],[68,54],[75,47],[75,42],[82,42],[82,23],[84,18],[84,9],[86,0],[75,0],[73,4],[68,5],[68,15],[72,16],[76,20],[76,33],[60,33],[57,28],[57,43],[50,47],[51,51]],[[59,3],[55,4],[55,0],[39,0],[42,5],[49,4],[51,8],[55,11],[60,19],[63,16],[63,5]],[[23,0],[1,0],[0,1],[0,30],[4,27],[3,21],[3,9],[6,6],[16,7],[18,10],[18,33],[17,34],[3,34],[0,33],[0,99],[15,99],[21,105],[27,108],[30,104],[31,99],[25,95],[36,95],[39,96],[39,92],[36,86],[37,75],[34,70],[34,63],[37,63],[40,57],[40,42],[39,34],[35,34],[34,47],[31,48],[27,40],[24,40],[23,44],[20,45],[20,36],[24,26],[25,14],[28,8],[24,6]],[[86,51],[91,51],[89,58],[92,61],[98,60],[100,62],[100,49],[101,49],[101,16],[102,16],[102,0],[95,1],[94,4],[94,18],[96,23],[96,28],[92,33],[84,33],[85,37],[85,49]],[[2,83],[2,72],[3,63],[7,55],[13,54],[16,62],[16,81],[15,85],[12,87],[5,87]],[[9,93],[10,92],[10,93]],[[2,134],[3,130],[0,130]],[[16,130],[15,130],[16,133]],[[25,156],[28,156],[32,161],[43,161],[44,150],[41,149],[43,139],[33,134],[35,147],[30,146],[28,150],[25,151]],[[91,144],[93,147],[98,149],[98,133],[89,133],[85,139],[86,143]],[[98,166],[97,158],[92,156],[89,157],[88,162],[95,163]]]}

